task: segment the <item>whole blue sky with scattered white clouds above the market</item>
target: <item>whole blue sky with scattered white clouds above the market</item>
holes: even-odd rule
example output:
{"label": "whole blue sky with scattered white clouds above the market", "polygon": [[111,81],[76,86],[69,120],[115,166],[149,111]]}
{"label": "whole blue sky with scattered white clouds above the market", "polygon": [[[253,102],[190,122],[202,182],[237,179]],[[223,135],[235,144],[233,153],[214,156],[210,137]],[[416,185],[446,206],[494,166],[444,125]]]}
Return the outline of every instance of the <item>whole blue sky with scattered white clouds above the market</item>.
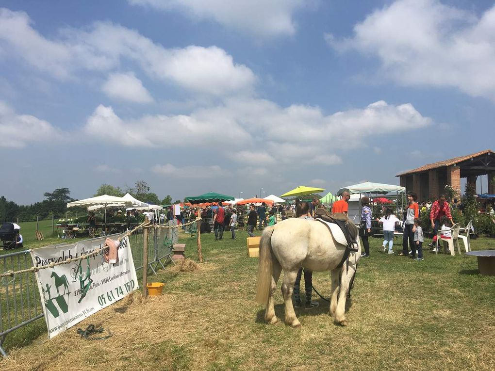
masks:
{"label": "whole blue sky with scattered white clouds above the market", "polygon": [[495,149],[493,1],[0,6],[0,194],[21,204],[397,184]]}

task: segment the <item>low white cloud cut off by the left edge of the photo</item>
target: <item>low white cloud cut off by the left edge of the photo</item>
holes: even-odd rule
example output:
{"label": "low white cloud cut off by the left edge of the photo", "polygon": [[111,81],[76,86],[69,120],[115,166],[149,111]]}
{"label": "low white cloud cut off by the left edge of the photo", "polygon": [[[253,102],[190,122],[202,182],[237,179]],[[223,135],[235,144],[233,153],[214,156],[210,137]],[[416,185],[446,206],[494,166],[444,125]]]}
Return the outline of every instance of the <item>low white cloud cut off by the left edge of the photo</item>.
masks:
{"label": "low white cloud cut off by the left edge of the photo", "polygon": [[31,115],[18,115],[0,100],[0,147],[25,147],[29,142],[60,138],[58,131],[47,121]]}

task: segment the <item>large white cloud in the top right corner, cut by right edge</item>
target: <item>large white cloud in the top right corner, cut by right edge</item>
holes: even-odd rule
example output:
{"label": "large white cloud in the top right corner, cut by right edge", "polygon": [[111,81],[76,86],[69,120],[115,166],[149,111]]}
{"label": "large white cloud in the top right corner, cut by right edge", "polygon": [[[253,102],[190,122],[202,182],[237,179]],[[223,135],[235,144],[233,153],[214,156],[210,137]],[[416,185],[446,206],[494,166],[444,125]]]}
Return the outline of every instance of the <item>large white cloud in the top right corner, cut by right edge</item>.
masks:
{"label": "large white cloud in the top right corner, cut by right edge", "polygon": [[405,86],[453,87],[495,100],[495,6],[481,17],[438,0],[397,0],[354,26],[340,51],[377,56],[387,78]]}

